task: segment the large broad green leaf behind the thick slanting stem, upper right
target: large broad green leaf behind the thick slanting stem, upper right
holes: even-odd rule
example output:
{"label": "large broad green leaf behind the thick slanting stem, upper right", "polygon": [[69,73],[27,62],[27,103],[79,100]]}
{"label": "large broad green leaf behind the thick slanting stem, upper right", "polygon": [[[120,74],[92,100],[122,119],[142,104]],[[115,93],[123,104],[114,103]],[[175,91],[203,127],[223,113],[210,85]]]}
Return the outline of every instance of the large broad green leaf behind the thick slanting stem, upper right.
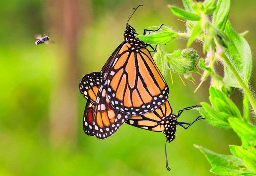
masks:
{"label": "large broad green leaf behind the thick slanting stem, upper right", "polygon": [[[225,33],[230,40],[230,42],[226,43],[227,48],[225,48],[225,53],[237,69],[241,78],[248,85],[252,72],[252,54],[250,46],[243,37],[231,28],[229,21],[226,24]],[[226,65],[224,65],[224,81],[232,87],[241,87]]]}

